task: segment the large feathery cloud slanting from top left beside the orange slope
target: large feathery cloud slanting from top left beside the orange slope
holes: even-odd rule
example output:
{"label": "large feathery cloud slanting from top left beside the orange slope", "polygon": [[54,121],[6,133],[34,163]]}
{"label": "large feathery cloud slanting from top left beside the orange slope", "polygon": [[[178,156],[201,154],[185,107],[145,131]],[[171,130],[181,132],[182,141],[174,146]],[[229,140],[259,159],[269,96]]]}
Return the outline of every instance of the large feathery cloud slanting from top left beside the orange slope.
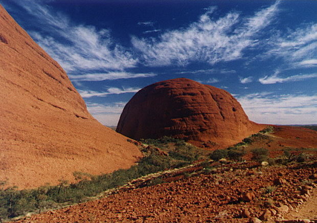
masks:
{"label": "large feathery cloud slanting from top left beside the orange slope", "polygon": [[[41,27],[44,32],[29,30],[32,38],[73,76],[96,70],[122,72],[138,63],[132,53],[112,39],[108,29],[74,24],[62,13],[55,12],[38,1],[15,2],[39,24],[43,24]],[[50,35],[46,35],[46,31]],[[138,77],[133,73],[126,75]]]}

